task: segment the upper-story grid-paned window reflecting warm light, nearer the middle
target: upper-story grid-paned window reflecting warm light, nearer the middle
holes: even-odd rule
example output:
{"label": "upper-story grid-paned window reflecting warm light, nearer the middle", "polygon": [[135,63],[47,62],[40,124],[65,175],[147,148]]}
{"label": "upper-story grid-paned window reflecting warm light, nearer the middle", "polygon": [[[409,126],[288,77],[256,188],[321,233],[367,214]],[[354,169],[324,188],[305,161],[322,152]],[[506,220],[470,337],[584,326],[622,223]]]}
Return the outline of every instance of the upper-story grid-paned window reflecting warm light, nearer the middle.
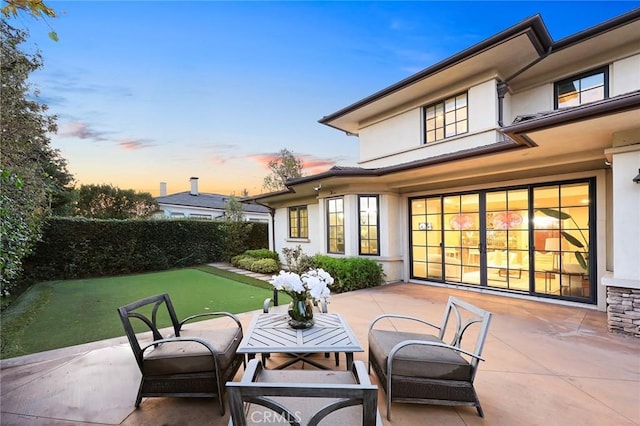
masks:
{"label": "upper-story grid-paned window reflecting warm light, nearer the middle", "polygon": [[468,117],[466,93],[425,107],[425,142],[435,142],[466,133]]}

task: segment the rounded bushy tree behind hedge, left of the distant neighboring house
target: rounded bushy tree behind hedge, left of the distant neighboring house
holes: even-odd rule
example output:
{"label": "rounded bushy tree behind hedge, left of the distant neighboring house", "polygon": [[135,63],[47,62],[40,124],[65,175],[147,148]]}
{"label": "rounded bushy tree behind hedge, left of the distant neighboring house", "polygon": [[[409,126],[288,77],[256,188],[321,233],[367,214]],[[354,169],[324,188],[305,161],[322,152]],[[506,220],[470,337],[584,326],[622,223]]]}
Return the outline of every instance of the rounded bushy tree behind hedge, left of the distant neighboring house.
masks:
{"label": "rounded bushy tree behind hedge, left of the distant neighboring house", "polygon": [[112,185],[81,185],[76,216],[94,219],[148,217],[158,210],[158,202],[148,192],[120,189]]}

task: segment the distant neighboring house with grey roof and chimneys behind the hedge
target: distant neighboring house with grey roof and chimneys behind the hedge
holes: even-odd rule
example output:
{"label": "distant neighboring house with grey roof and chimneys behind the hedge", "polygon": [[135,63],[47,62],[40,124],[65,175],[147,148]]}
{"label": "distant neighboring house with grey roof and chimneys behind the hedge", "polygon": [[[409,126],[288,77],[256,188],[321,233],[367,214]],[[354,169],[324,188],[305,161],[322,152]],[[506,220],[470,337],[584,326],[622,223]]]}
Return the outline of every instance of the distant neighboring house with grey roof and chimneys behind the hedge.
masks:
{"label": "distant neighboring house with grey roof and chimneys behind the hedge", "polygon": [[[156,215],[171,219],[224,220],[225,208],[231,196],[207,194],[198,191],[198,178],[192,177],[191,190],[166,194],[166,186],[160,185],[156,197],[160,212]],[[269,209],[256,204],[242,204],[244,219],[252,222],[270,222]]]}

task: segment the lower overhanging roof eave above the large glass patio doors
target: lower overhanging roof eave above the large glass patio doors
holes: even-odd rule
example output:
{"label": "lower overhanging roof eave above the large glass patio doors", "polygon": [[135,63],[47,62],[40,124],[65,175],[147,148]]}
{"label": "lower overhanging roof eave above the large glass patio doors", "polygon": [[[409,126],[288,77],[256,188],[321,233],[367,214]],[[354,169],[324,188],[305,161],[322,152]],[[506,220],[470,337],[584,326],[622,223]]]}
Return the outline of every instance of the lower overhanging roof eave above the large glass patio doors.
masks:
{"label": "lower overhanging roof eave above the large glass patio doors", "polygon": [[503,127],[505,140],[452,154],[379,168],[333,167],[287,181],[288,188],[246,198],[278,204],[310,197],[319,188],[382,184],[397,192],[525,177],[531,173],[604,167],[604,150],[617,132],[638,129],[640,91],[566,108]]}

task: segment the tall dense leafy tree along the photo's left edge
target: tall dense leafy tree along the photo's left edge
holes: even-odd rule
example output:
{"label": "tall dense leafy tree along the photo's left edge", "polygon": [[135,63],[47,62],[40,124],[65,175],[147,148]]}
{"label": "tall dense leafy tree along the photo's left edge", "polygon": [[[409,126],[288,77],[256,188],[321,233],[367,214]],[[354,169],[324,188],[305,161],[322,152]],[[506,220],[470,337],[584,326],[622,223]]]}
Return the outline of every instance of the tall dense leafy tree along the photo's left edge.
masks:
{"label": "tall dense leafy tree along the photo's left edge", "polygon": [[47,106],[28,83],[42,59],[20,50],[26,36],[0,20],[0,294],[15,285],[42,221],[73,181],[65,160],[50,147],[56,117],[46,114]]}

